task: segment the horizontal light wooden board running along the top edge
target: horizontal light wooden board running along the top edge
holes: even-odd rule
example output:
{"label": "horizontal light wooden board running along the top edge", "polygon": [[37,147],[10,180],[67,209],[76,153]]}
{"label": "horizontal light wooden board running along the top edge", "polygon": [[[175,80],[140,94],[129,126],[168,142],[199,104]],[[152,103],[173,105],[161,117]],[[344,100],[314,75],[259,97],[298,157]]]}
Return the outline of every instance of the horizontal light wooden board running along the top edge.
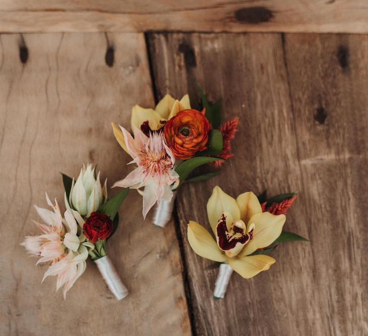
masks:
{"label": "horizontal light wooden board running along the top edge", "polygon": [[1,32],[368,32],[365,0],[3,0]]}

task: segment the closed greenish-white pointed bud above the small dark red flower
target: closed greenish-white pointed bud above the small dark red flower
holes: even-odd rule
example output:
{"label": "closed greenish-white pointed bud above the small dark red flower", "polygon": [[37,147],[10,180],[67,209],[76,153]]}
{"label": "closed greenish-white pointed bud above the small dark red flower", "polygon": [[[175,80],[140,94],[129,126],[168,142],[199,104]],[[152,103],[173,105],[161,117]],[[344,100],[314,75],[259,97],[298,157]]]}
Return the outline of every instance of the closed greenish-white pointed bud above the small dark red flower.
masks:
{"label": "closed greenish-white pointed bud above the small dark red flower", "polygon": [[102,190],[100,172],[95,178],[95,168],[92,169],[92,164],[88,164],[87,167],[83,165],[77,181],[72,184],[69,199],[71,205],[86,217],[97,211],[102,202],[107,199],[107,190],[105,187]]}

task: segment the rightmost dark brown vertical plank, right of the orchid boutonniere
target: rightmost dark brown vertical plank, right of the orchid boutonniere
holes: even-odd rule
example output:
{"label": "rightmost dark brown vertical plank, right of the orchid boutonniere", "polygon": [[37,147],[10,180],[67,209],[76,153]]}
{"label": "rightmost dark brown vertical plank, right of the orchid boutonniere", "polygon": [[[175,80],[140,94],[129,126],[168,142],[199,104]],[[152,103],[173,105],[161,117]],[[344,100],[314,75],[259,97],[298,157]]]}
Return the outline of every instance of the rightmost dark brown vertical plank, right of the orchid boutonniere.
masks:
{"label": "rightmost dark brown vertical plank, right of the orchid boutonniere", "polygon": [[310,313],[325,334],[368,333],[367,52],[368,36],[285,38],[302,189],[311,195],[305,209],[313,212],[309,234],[316,241]]}

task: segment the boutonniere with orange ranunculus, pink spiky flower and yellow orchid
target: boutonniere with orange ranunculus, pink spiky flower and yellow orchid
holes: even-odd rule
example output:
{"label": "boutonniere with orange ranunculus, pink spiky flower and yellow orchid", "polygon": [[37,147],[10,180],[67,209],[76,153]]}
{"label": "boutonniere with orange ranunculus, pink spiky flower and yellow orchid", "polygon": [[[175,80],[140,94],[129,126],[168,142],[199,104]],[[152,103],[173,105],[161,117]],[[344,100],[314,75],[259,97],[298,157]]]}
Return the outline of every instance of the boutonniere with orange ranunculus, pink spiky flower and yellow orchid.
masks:
{"label": "boutonniere with orange ranunculus, pink spiky flower and yellow orchid", "polygon": [[204,181],[218,171],[190,177],[199,166],[212,162],[220,167],[230,158],[230,142],[238,118],[221,123],[221,99],[210,104],[201,90],[201,111],[191,108],[185,95],[175,100],[166,95],[155,109],[133,107],[131,129],[112,123],[120,146],[136,168],[113,187],[137,189],[143,196],[143,217],[155,206],[152,221],[165,226],[171,218],[176,191],[184,182]]}

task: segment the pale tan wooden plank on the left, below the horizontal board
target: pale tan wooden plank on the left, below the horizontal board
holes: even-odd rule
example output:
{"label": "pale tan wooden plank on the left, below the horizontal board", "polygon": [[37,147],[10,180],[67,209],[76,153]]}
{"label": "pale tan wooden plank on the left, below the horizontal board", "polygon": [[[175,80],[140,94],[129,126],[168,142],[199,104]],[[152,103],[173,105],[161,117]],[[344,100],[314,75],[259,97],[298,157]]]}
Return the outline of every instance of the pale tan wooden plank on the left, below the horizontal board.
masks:
{"label": "pale tan wooden plank on the left, below the horizontal board", "polygon": [[130,170],[110,122],[129,124],[133,104],[154,104],[144,36],[3,34],[0,49],[0,333],[190,334],[174,226],[143,222],[137,193],[107,246],[130,290],[122,301],[92,262],[64,301],[54,279],[40,284],[47,265],[35,267],[20,246],[37,233],[32,205],[45,206],[44,191],[64,209],[59,171],[98,163],[111,186]]}

